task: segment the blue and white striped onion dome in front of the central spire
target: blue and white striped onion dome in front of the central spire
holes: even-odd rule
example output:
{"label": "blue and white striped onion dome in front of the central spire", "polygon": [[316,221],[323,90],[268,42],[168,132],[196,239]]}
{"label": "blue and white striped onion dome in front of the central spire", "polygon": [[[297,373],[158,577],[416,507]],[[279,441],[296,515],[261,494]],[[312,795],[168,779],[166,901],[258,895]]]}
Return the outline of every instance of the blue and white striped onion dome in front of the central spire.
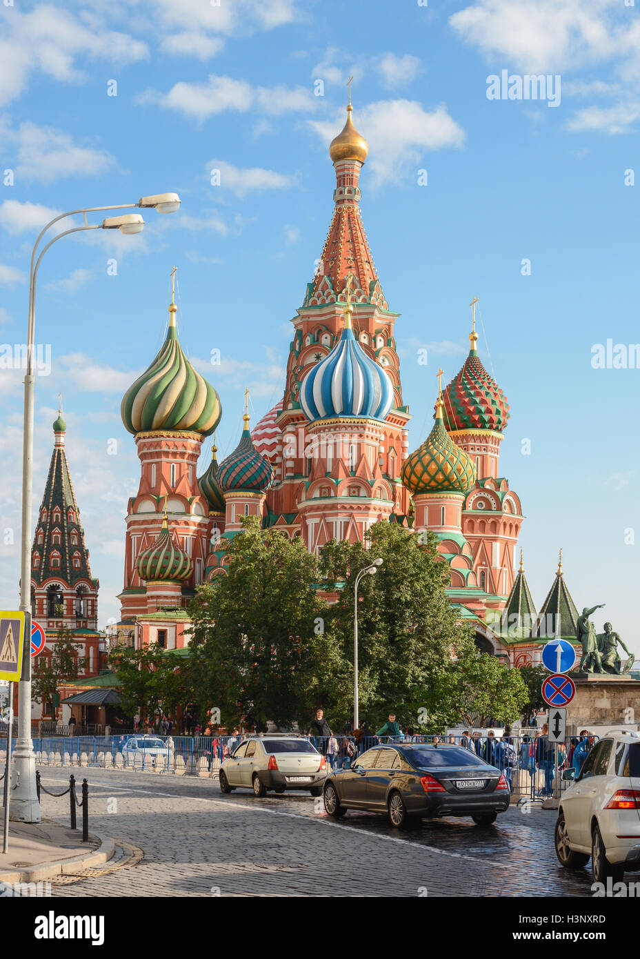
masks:
{"label": "blue and white striped onion dome in front of the central spire", "polygon": [[394,402],[391,380],[364,352],[351,326],[351,304],[345,309],[342,336],[331,353],[307,374],[300,405],[307,418],[366,416],[383,420]]}

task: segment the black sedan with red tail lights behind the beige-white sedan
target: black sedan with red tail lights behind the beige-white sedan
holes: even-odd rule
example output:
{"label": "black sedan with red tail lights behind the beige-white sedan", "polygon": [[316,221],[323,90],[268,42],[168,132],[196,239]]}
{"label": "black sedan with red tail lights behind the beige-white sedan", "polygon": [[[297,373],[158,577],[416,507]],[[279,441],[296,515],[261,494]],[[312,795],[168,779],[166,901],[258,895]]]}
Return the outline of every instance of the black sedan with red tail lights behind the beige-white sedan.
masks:
{"label": "black sedan with red tail lights behind the beige-white sedan", "polygon": [[504,773],[462,746],[399,743],[368,749],[351,769],[331,773],[324,800],[330,816],[386,812],[397,829],[419,816],[470,816],[491,826],[509,808],[510,791]]}

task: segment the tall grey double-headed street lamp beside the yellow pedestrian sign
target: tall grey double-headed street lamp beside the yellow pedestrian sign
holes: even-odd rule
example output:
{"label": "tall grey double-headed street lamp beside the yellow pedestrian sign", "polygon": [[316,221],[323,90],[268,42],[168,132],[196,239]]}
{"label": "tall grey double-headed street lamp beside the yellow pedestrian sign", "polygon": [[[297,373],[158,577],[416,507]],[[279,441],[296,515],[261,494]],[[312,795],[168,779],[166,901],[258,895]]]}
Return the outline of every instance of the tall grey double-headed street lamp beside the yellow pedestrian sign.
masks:
{"label": "tall grey double-headed street lamp beside the yellow pedestrian sign", "polygon": [[[11,819],[25,823],[39,823],[40,804],[35,791],[35,757],[31,738],[31,502],[34,460],[34,340],[35,340],[35,280],[42,257],[50,246],[82,230],[120,230],[121,233],[140,233],[145,221],[139,213],[108,217],[102,223],[88,223],[87,213],[106,210],[127,210],[133,207],[155,209],[158,213],[173,213],[180,207],[176,193],[161,193],[143,197],[137,203],[118,203],[112,206],[89,206],[60,213],[41,230],[34,244],[29,274],[29,322],[27,328],[27,368],[25,374],[24,433],[22,444],[22,536],[20,546],[20,609],[25,614],[25,642],[22,674],[18,683],[18,728],[11,770]],[[44,246],[37,260],[37,247],[47,230],[66,217],[81,213],[84,225],[74,226],[58,233]]]}

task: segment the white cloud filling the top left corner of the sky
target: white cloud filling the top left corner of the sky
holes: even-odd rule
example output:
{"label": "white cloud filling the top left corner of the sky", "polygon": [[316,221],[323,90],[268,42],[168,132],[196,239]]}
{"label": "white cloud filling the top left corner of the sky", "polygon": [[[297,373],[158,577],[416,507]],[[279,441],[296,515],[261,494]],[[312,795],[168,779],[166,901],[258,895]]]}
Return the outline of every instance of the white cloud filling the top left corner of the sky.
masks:
{"label": "white cloud filling the top left corner of the sky", "polygon": [[89,26],[60,7],[40,5],[28,13],[0,7],[0,19],[0,105],[20,96],[36,73],[58,82],[85,80],[80,58],[122,65],[149,56],[146,43],[108,30],[103,19]]}

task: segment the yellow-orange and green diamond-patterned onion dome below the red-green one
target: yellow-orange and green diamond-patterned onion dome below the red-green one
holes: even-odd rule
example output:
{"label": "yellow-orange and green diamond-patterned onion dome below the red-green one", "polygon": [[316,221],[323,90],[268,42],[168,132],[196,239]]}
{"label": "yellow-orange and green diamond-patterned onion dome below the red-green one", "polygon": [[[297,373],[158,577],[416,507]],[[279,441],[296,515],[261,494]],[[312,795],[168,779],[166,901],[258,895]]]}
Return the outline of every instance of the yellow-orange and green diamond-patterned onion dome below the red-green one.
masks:
{"label": "yellow-orange and green diamond-patterned onion dome below the red-green one", "polygon": [[416,493],[468,493],[475,482],[470,456],[446,432],[443,402],[436,403],[431,433],[402,464],[402,484]]}

